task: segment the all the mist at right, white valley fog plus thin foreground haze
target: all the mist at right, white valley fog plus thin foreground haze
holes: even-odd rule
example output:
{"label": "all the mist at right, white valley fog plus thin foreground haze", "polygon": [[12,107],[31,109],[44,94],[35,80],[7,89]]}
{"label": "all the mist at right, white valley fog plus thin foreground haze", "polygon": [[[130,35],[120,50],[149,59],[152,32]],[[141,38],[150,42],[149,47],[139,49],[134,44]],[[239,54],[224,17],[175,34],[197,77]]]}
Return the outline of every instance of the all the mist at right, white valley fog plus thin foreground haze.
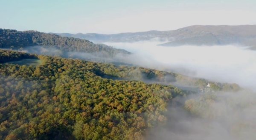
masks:
{"label": "all the mist at right, white valley fog plus thin foreground haze", "polygon": [[122,62],[174,71],[210,81],[237,83],[247,90],[202,92],[176,97],[168,122],[149,140],[254,140],[256,137],[256,51],[238,45],[158,46],[163,42],[105,43],[133,53]]}

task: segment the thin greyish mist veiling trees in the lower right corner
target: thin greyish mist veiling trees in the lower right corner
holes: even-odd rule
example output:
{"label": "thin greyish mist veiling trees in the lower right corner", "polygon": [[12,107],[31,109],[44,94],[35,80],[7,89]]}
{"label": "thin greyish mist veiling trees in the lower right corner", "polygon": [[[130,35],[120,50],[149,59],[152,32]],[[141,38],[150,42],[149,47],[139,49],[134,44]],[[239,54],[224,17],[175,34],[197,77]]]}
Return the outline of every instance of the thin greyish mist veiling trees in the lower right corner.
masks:
{"label": "thin greyish mist veiling trees in the lower right corner", "polygon": [[256,94],[213,92],[174,98],[168,122],[148,140],[255,140]]}

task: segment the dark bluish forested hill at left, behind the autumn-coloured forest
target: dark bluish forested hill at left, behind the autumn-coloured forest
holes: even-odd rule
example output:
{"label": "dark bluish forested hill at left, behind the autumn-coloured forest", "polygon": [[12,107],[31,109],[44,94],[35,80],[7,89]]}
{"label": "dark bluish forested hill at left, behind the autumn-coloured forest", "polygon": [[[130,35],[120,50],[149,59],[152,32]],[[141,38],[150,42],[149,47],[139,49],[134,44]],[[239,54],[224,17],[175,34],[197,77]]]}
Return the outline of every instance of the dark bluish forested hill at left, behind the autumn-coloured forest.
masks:
{"label": "dark bluish forested hill at left, behind the autumn-coloured forest", "polygon": [[109,56],[116,55],[117,53],[129,53],[126,50],[116,49],[107,45],[94,44],[93,42],[85,39],[62,37],[55,34],[45,34],[38,31],[0,29],[0,48],[12,48],[17,50],[36,45],[55,47],[63,51],[84,53],[104,52]]}

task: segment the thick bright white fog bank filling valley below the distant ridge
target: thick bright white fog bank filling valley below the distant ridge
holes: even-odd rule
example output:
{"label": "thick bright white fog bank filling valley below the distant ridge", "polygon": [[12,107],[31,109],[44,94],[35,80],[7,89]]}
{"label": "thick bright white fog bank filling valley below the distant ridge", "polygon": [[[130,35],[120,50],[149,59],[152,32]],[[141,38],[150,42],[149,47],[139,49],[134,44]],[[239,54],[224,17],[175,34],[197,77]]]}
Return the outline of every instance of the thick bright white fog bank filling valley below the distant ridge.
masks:
{"label": "thick bright white fog bank filling valley below the distant ridge", "polygon": [[225,46],[159,46],[163,42],[110,43],[133,53],[116,56],[116,61],[206,78],[237,83],[255,90],[256,51],[237,45]]}

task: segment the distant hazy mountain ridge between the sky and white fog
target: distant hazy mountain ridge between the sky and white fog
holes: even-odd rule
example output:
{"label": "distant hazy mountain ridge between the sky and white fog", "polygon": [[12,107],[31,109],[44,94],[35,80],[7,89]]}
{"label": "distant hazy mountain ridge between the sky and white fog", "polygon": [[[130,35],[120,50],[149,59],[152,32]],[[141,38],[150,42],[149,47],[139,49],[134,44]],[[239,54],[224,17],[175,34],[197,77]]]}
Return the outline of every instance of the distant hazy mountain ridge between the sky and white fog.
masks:
{"label": "distant hazy mountain ridge between the sky and white fog", "polygon": [[58,35],[87,39],[92,42],[137,42],[157,38],[168,41],[162,44],[164,46],[238,44],[256,48],[256,25],[192,25],[172,31]]}

